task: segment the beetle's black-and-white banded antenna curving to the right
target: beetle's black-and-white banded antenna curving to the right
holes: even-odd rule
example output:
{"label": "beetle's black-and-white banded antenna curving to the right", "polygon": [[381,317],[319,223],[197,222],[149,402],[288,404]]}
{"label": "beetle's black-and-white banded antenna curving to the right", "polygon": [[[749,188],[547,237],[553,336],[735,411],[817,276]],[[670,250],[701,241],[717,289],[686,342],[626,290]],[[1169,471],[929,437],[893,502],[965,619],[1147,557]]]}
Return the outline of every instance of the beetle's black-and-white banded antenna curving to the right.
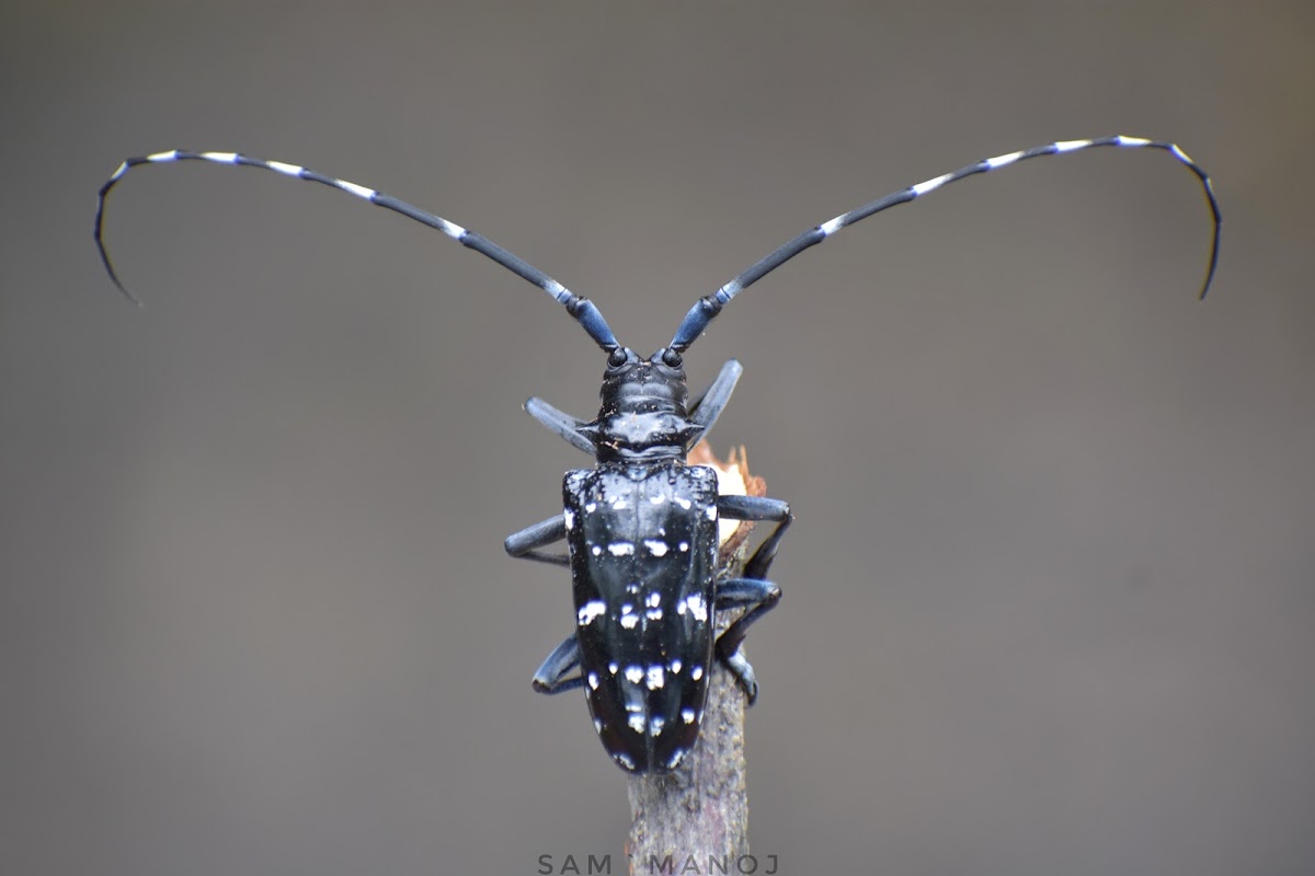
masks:
{"label": "beetle's black-and-white banded antenna curving to the right", "polygon": [[1201,185],[1205,189],[1206,200],[1210,202],[1210,213],[1214,215],[1215,230],[1214,239],[1210,246],[1210,267],[1206,271],[1206,281],[1201,288],[1201,298],[1206,297],[1210,290],[1210,282],[1215,277],[1215,267],[1219,264],[1219,229],[1222,218],[1219,215],[1219,202],[1215,200],[1215,189],[1210,183],[1210,176],[1201,168],[1199,164],[1187,158],[1176,143],[1161,143],[1159,141],[1149,141],[1143,137],[1102,137],[1099,139],[1090,141],[1060,141],[1056,143],[1047,143],[1045,146],[1035,146],[1028,150],[1020,150],[1018,152],[1009,152],[1007,155],[998,155],[995,158],[988,158],[968,167],[961,167],[951,173],[944,173],[942,176],[927,180],[926,183],[919,183],[917,185],[910,185],[906,189],[899,189],[898,192],[892,192],[890,194],[877,198],[871,204],[865,204],[848,213],[842,213],[834,219],[828,219],[819,226],[809,229],[800,236],[784,243],[782,246],[773,250],[771,253],[760,259],[759,261],[750,265],[743,273],[736,274],[730,282],[714,292],[713,294],[700,298],[690,307],[685,319],[680,323],[676,330],[676,336],[671,340],[671,349],[676,353],[684,352],[698,336],[707,328],[717,314],[721,313],[726,303],[738,296],[739,293],[748,289],[751,285],[761,280],[764,276],[776,271],[782,264],[800,255],[811,246],[822,243],[832,234],[844,229],[847,226],[865,219],[869,215],[881,213],[888,208],[897,206],[899,204],[906,204],[915,198],[934,192],[943,185],[955,183],[964,179],[965,176],[972,176],[974,173],[986,173],[990,171],[999,169],[1014,164],[1015,162],[1023,162],[1030,158],[1039,158],[1041,155],[1060,155],[1063,152],[1078,152],[1081,150],[1093,148],[1097,146],[1120,146],[1123,148],[1159,148],[1169,152],[1181,164],[1185,164],[1187,169],[1197,175],[1201,180]]}

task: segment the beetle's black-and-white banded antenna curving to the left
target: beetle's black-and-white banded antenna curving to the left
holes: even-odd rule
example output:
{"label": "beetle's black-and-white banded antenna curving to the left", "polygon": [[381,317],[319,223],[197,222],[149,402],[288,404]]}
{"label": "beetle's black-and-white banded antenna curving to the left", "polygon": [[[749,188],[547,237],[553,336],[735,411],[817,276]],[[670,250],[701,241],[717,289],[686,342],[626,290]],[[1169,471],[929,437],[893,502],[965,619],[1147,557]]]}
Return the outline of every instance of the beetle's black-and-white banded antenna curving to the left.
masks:
{"label": "beetle's black-and-white banded antenna curving to the left", "polygon": [[251,158],[249,155],[241,155],[239,152],[188,152],[184,150],[172,150],[168,152],[154,152],[151,155],[139,155],[130,158],[118,165],[113,176],[100,186],[100,193],[96,197],[96,247],[100,250],[100,260],[105,265],[105,271],[109,272],[109,278],[114,281],[118,290],[128,297],[134,305],[141,305],[141,302],[128,292],[128,288],[118,278],[118,272],[114,271],[113,263],[109,260],[109,252],[105,250],[105,235],[104,235],[104,214],[105,214],[105,197],[109,190],[114,188],[129,168],[137,167],[138,164],[168,164],[171,162],[210,162],[212,164],[237,164],[245,167],[259,167],[266,171],[274,171],[275,173],[281,173],[283,176],[291,176],[297,180],[308,180],[310,183],[320,183],[321,185],[327,185],[330,188],[338,189],[339,192],[346,192],[363,201],[370,201],[375,206],[381,206],[385,210],[392,210],[393,213],[401,213],[408,219],[414,219],[421,225],[427,225],[431,229],[437,229],[452,238],[464,247],[469,247],[476,252],[488,256],[493,261],[498,263],[512,273],[529,280],[535,286],[543,292],[552,296],[554,301],[567,309],[576,322],[593,338],[594,343],[598,344],[604,351],[611,352],[619,347],[617,344],[615,336],[611,334],[611,328],[608,327],[606,320],[602,314],[588,298],[581,298],[576,296],[569,289],[563,286],[560,282],[543,273],[534,265],[529,264],[523,259],[508,252],[498,244],[493,243],[488,238],[484,238],[475,231],[468,231],[462,226],[448,222],[441,215],[435,215],[419,208],[412,206],[405,201],[400,201],[391,194],[384,194],[375,189],[367,189],[364,185],[356,185],[355,183],[348,183],[347,180],[334,179],[331,176],[323,176],[306,167],[300,167],[297,164],[284,164],[283,162],[266,162],[258,158]]}

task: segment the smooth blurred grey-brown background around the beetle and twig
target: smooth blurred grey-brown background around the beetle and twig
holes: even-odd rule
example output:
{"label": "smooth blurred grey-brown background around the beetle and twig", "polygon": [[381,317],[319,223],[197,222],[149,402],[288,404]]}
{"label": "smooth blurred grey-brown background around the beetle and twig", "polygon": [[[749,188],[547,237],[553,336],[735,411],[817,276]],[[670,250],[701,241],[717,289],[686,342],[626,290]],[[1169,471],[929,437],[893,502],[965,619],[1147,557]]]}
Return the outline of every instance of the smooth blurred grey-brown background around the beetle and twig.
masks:
{"label": "smooth blurred grey-brown background around the beetle and twig", "polygon": [[604,360],[381,188],[643,353],[692,348],[798,523],[753,630],[781,873],[1315,871],[1315,13],[1078,5],[11,0],[0,12],[0,872],[534,873],[623,775],[530,690],[565,577],[502,537]]}

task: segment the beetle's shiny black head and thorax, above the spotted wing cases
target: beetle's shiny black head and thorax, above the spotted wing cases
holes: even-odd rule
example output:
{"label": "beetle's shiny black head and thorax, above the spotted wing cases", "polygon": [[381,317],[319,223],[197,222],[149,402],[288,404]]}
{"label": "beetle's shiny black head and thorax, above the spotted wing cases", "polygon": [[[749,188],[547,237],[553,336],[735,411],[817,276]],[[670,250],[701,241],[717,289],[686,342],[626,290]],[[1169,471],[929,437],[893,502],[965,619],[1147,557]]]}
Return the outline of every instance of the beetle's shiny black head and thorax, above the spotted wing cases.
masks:
{"label": "beetle's shiny black head and thorax, above the spotted wing cases", "polygon": [[[596,440],[600,461],[685,458],[685,444],[697,427],[685,407],[685,370],[679,357],[669,365],[665,352],[643,360],[622,349],[625,362],[608,362],[598,418],[585,427]],[[614,359],[619,360],[619,353]]]}

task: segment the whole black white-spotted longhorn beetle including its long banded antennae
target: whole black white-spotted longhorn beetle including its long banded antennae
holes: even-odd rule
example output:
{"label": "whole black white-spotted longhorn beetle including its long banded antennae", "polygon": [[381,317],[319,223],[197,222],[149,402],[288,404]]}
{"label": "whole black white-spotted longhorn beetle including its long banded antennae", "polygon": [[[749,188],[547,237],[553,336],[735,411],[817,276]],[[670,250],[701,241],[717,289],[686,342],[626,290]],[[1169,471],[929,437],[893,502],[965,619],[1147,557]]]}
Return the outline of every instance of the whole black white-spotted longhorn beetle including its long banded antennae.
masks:
{"label": "whole black white-spotted longhorn beetle including its long banded antennae", "polygon": [[[865,204],[817,225],[777,247],[697,299],[672,340],[647,359],[621,345],[588,298],[508,252],[492,240],[376,189],[309,168],[241,152],[172,150],[129,158],[100,188],[95,239],[114,285],[134,303],[104,240],[105,201],[133,167],[200,160],[255,167],[329,185],[442,231],[548,293],[608,356],[598,415],[585,423],[539,398],[525,410],[555,435],[594,457],[594,466],[568,471],[563,511],[513,533],[513,557],[571,570],[576,629],[543,662],[534,688],[543,693],[584,688],[593,724],[613,760],[633,774],[668,772],[698,737],[713,662],[723,665],[752,704],[753,668],[740,645],[748,628],[781,598],[767,575],[790,507],[780,499],[718,495],[715,471],[689,465],[689,449],[707,433],[730,401],[743,369],[727,361],[711,386],[690,401],[684,353],[740,292],[840,229],[899,204],[914,201],[967,176],[995,171],[1043,155],[1094,147],[1153,148],[1172,155],[1201,181],[1214,219],[1210,264],[1201,289],[1206,297],[1219,261],[1220,213],[1210,176],[1177,144],[1140,137],[1056,141],[968,164]],[[744,571],[717,577],[721,520],[775,523]],[[565,542],[565,553],[546,550]],[[742,609],[721,634],[718,612]]]}

